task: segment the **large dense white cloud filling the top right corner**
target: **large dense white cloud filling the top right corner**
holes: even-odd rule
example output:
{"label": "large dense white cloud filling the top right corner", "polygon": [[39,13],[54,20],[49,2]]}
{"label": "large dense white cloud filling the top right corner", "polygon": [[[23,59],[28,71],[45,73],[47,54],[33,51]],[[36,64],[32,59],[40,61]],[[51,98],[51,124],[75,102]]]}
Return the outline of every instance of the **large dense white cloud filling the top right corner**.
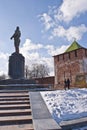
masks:
{"label": "large dense white cloud filling the top right corner", "polygon": [[57,10],[55,18],[70,22],[74,17],[87,11],[87,0],[63,0],[62,5]]}

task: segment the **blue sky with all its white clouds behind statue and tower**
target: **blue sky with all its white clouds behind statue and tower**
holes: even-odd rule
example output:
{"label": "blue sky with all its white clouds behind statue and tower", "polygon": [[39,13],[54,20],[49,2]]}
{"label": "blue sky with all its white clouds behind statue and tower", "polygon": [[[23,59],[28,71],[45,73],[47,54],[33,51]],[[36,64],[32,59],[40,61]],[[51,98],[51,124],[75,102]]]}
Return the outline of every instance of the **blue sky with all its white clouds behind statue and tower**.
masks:
{"label": "blue sky with all its white clouds behind statue and tower", "polygon": [[8,73],[16,26],[26,64],[45,63],[53,75],[53,55],[64,52],[75,38],[87,47],[86,21],[87,0],[0,0],[0,75]]}

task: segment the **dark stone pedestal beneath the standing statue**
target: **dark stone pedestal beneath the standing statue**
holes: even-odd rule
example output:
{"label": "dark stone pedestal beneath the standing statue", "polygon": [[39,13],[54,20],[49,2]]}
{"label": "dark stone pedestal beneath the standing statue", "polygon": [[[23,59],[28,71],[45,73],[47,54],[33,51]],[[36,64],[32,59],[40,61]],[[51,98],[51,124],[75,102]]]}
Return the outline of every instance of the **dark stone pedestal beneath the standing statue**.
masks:
{"label": "dark stone pedestal beneath the standing statue", "polygon": [[9,57],[9,76],[12,79],[24,78],[24,64],[25,58],[20,53],[13,53]]}

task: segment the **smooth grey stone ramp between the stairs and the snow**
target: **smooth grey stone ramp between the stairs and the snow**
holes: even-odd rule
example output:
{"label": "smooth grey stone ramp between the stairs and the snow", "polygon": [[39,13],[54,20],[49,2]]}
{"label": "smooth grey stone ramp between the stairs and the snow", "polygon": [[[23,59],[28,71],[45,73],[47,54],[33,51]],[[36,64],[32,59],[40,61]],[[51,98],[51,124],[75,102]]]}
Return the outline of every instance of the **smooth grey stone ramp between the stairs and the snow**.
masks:
{"label": "smooth grey stone ramp between the stairs and the snow", "polygon": [[29,92],[34,130],[61,130],[52,119],[40,92]]}

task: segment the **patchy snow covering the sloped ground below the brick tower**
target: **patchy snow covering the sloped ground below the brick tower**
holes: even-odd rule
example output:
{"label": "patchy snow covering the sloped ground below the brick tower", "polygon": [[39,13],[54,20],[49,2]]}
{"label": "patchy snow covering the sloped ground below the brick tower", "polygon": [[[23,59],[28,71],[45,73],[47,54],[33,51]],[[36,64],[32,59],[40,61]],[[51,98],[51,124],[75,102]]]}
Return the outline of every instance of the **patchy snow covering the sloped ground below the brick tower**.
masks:
{"label": "patchy snow covering the sloped ground below the brick tower", "polygon": [[87,117],[87,89],[40,92],[56,122]]}

